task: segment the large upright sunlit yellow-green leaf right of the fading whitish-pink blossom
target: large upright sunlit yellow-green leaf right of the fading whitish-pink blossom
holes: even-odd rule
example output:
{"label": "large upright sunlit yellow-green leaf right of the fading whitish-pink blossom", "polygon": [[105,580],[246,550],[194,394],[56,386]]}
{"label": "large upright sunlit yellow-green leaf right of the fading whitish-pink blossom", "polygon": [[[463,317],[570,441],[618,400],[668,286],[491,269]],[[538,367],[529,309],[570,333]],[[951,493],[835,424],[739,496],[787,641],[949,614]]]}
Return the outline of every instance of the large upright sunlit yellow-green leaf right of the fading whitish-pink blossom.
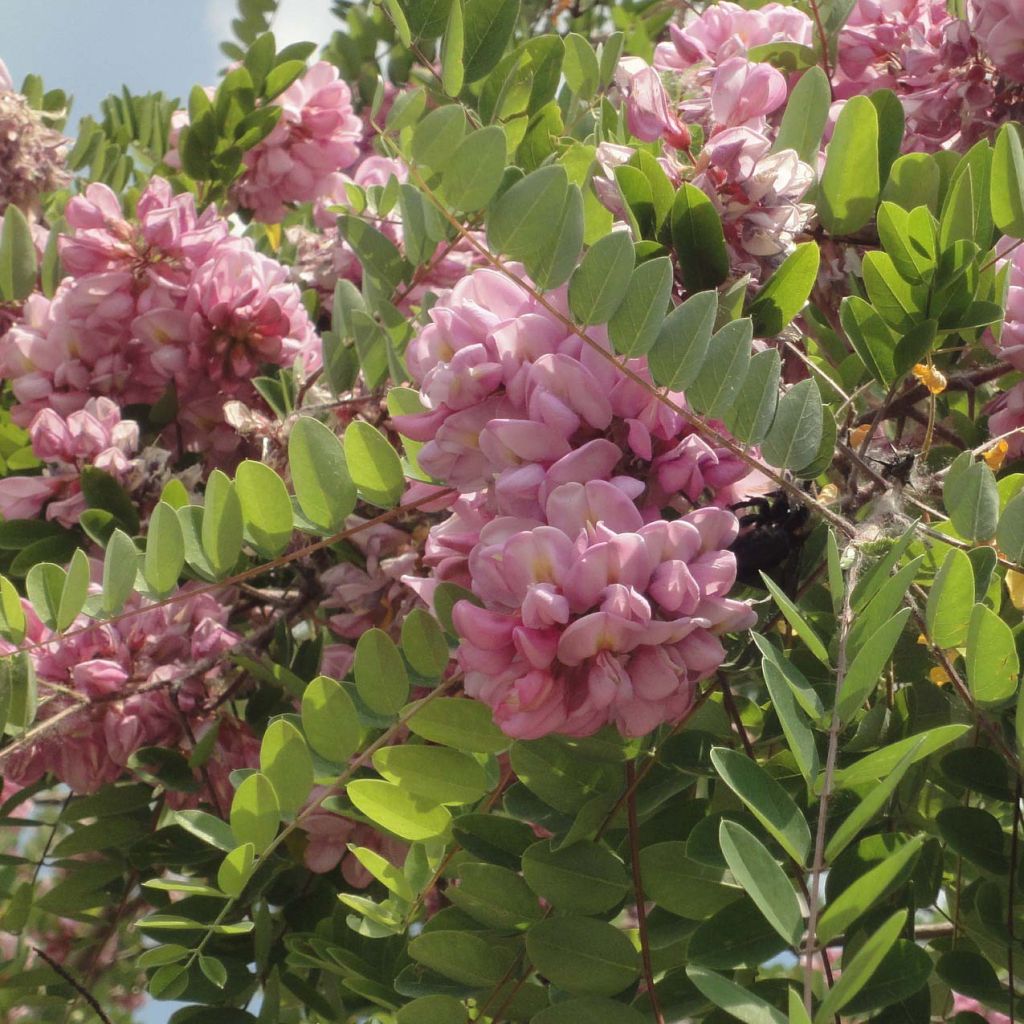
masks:
{"label": "large upright sunlit yellow-green leaf right of the fading whitish-pink blossom", "polygon": [[829,234],[852,234],[874,215],[879,181],[879,118],[866,96],[844,104],[817,193],[818,216]]}

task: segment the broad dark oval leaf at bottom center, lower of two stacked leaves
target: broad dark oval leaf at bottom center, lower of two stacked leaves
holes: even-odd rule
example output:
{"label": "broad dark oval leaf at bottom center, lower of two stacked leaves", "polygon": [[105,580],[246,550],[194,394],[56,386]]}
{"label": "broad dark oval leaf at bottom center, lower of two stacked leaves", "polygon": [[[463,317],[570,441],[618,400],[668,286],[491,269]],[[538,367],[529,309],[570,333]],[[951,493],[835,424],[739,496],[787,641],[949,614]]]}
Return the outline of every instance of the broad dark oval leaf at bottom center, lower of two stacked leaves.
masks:
{"label": "broad dark oval leaf at bottom center, lower of two stacked leaves", "polygon": [[593,918],[549,918],[526,933],[526,954],[572,995],[614,995],[636,980],[639,954],[617,928]]}

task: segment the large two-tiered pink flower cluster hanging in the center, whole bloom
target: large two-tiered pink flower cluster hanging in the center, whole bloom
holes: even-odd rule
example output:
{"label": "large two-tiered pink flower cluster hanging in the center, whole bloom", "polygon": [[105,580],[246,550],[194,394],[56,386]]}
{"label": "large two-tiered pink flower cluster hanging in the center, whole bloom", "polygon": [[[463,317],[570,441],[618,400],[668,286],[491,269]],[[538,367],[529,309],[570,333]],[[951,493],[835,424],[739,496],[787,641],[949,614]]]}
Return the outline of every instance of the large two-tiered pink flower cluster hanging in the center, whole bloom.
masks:
{"label": "large two-tiered pink flower cluster hanging in the center, whole bloom", "polygon": [[[566,313],[564,289],[547,301]],[[429,599],[451,580],[466,691],[510,735],[639,735],[677,720],[721,663],[717,634],[753,622],[726,594],[745,466],[689,430],[566,321],[481,269],[410,343],[429,410],[397,417],[420,465],[466,493],[431,530]],[[604,341],[600,331],[592,332]],[[645,360],[627,366],[641,379]],[[674,395],[683,401],[682,395]],[[666,521],[663,509],[682,518]]]}

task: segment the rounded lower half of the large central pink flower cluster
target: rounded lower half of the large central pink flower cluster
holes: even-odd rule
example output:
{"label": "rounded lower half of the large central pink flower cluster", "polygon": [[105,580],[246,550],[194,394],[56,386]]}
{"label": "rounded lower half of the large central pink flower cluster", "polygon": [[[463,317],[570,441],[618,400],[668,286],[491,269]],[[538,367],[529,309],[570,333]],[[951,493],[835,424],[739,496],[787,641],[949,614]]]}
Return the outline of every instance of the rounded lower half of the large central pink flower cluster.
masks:
{"label": "rounded lower half of the large central pink flower cluster", "polygon": [[736,517],[705,508],[644,524],[601,480],[555,487],[545,513],[480,531],[469,566],[483,607],[454,612],[466,692],[523,739],[677,721],[725,656],[718,634],[757,618],[726,596]]}

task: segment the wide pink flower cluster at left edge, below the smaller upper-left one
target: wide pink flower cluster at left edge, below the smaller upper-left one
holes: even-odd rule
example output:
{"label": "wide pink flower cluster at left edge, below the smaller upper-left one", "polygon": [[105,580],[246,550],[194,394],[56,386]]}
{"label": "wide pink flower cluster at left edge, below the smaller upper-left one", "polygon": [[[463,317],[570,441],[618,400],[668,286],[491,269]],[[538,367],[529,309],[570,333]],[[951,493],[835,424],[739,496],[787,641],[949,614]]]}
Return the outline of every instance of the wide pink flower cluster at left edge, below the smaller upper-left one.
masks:
{"label": "wide pink flower cluster at left edge, below the smaller upper-left one", "polygon": [[69,416],[99,396],[148,404],[173,385],[185,447],[219,460],[239,443],[224,403],[255,400],[249,380],[261,365],[318,366],[287,268],[230,236],[213,207],[197,215],[191,196],[155,177],[132,219],[100,183],[66,215],[69,276],[52,299],[33,294],[0,338],[15,422],[47,409]]}

